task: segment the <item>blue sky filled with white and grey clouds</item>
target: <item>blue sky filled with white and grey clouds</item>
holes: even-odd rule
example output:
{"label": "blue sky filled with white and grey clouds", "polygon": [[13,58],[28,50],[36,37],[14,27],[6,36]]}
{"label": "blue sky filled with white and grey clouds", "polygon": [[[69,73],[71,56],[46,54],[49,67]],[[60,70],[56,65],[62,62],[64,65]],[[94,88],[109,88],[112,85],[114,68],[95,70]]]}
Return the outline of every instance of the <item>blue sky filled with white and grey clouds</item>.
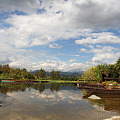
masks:
{"label": "blue sky filled with white and grey clouds", "polygon": [[0,64],[85,71],[120,57],[120,0],[0,0]]}

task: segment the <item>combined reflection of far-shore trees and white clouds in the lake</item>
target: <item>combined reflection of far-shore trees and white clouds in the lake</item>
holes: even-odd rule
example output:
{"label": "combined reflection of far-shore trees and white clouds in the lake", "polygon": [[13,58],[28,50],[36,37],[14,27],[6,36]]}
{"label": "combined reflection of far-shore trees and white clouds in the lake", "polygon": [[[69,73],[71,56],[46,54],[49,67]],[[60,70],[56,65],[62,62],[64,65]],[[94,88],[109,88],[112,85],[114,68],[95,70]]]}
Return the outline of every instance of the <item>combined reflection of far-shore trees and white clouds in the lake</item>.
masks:
{"label": "combined reflection of far-shore trees and white clouds in the lake", "polygon": [[[65,100],[67,103],[74,104],[76,100],[82,99],[81,90],[74,87],[71,89],[71,84],[59,84],[59,83],[35,83],[35,84],[10,84],[4,83],[0,86],[0,93],[7,96],[19,96],[27,97],[30,99],[33,98],[35,100],[41,101],[62,101]],[[75,91],[77,90],[77,91]],[[28,92],[27,92],[28,91]],[[28,94],[29,93],[29,94]],[[20,99],[20,98],[19,98]]]}

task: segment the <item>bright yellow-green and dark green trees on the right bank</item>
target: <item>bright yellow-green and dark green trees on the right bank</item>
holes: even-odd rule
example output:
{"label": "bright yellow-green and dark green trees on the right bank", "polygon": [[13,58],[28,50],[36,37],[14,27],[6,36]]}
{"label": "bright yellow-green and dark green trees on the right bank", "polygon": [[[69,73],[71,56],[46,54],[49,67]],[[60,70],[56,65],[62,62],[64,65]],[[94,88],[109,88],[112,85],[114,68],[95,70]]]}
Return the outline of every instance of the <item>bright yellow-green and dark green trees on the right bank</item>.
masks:
{"label": "bright yellow-green and dark green trees on the right bank", "polygon": [[115,64],[100,64],[96,67],[91,67],[83,73],[81,79],[102,82],[105,77],[120,78],[120,58]]}

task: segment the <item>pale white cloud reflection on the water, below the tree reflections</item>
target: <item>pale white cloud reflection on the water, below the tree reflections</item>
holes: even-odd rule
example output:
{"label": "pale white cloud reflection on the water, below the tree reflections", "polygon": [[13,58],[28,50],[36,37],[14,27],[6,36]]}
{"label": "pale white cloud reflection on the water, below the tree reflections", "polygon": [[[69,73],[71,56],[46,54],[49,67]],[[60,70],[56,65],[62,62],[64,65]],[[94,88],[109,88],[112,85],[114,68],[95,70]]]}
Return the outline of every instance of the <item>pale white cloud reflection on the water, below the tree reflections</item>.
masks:
{"label": "pale white cloud reflection on the water, below the tree reflections", "polygon": [[73,104],[77,100],[82,100],[82,94],[80,91],[74,90],[60,90],[58,92],[54,91],[51,92],[49,89],[46,89],[44,92],[39,93],[38,90],[31,89],[29,92],[14,92],[14,93],[7,93],[8,96],[16,99],[19,102],[28,101],[29,100],[39,100],[39,101],[51,101],[51,102],[58,102],[58,101],[68,101],[68,103]]}

